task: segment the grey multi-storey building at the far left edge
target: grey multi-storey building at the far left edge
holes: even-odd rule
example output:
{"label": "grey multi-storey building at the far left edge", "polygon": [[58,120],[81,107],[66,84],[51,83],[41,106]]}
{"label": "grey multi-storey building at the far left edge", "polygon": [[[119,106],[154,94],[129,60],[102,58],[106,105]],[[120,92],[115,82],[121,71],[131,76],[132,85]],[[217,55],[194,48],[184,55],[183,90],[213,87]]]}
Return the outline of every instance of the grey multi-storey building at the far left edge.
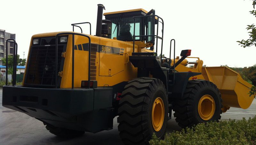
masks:
{"label": "grey multi-storey building at the far left edge", "polygon": [[[6,57],[6,40],[13,38],[15,39],[15,34],[5,32],[5,30],[0,29],[0,65],[2,65],[2,58]],[[8,44],[8,55],[13,55],[14,43]]]}

